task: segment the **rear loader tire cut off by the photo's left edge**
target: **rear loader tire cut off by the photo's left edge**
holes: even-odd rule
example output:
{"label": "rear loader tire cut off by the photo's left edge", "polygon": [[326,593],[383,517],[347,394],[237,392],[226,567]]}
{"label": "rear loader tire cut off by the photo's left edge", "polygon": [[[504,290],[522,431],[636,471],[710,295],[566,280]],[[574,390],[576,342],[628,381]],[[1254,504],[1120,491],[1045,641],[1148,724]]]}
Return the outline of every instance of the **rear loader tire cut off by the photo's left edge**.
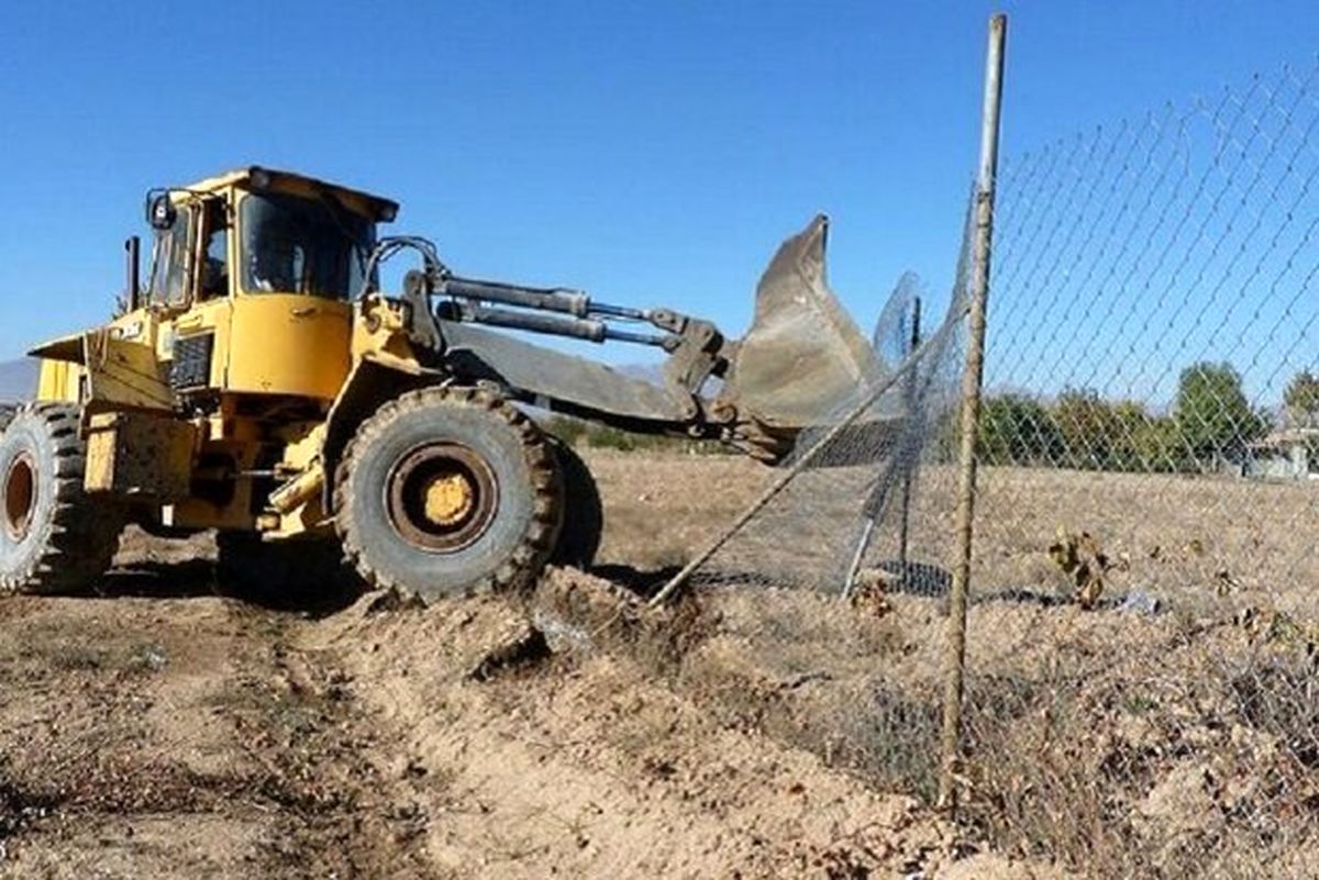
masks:
{"label": "rear loader tire cut off by the photo's left edge", "polygon": [[109,569],[124,515],[83,493],[84,468],[77,407],[13,412],[0,435],[0,591],[82,590]]}

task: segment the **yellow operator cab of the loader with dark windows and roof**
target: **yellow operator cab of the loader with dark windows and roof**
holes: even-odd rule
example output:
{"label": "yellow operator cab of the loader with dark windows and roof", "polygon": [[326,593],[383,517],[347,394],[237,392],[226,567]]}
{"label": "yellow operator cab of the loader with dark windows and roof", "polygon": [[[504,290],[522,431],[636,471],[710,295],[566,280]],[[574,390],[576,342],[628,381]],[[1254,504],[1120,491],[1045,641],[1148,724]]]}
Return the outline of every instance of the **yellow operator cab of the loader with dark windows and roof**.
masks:
{"label": "yellow operator cab of the loader with dark windows and roof", "polygon": [[327,404],[350,369],[350,300],[365,285],[376,224],[396,211],[256,167],[153,191],[150,269],[127,323],[154,331],[174,394]]}

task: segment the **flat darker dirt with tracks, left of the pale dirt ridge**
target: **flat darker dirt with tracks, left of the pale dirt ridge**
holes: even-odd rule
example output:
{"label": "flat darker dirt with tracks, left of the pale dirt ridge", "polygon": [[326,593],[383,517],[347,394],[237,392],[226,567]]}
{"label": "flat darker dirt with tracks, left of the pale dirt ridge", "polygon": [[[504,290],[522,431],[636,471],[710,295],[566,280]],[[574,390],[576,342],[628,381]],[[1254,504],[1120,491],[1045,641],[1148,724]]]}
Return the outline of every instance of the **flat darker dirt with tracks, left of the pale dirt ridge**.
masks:
{"label": "flat darker dirt with tracks, left of the pale dirt ridge", "polygon": [[0,603],[0,876],[435,876],[381,734],[295,615]]}

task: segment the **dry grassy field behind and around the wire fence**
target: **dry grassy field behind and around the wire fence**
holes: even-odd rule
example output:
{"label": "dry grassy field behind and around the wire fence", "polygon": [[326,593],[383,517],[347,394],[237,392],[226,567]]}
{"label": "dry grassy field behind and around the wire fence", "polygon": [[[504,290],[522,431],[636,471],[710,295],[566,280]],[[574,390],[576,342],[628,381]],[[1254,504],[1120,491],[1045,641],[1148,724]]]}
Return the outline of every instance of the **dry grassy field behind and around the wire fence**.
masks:
{"label": "dry grassy field behind and around the wire fence", "polygon": [[[598,454],[592,466],[613,515],[605,552],[642,566],[669,541],[703,544],[772,477],[719,458]],[[1319,486],[981,473],[962,792],[972,827],[1093,876],[1310,876],[1298,854],[1319,842]],[[951,486],[948,469],[927,470],[913,511],[913,559],[942,568]],[[656,522],[678,527],[642,526]],[[1059,530],[1091,535],[1107,560],[1095,610],[1070,601],[1074,573],[1050,559]],[[719,624],[682,676],[712,711],[929,794],[939,602],[893,597],[876,628],[803,594],[703,601]]]}

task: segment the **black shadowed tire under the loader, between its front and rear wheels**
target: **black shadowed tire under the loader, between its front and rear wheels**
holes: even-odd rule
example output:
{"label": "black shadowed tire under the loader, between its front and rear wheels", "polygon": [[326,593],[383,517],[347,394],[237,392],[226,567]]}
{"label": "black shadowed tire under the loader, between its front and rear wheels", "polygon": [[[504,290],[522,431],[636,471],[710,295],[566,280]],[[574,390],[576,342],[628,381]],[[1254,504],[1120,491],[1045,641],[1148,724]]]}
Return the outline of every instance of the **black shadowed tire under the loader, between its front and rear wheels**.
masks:
{"label": "black shadowed tire under the loader, between its front and rear wheels", "polygon": [[219,532],[215,551],[219,590],[262,605],[317,606],[352,590],[356,581],[336,539],[266,541],[256,532]]}

